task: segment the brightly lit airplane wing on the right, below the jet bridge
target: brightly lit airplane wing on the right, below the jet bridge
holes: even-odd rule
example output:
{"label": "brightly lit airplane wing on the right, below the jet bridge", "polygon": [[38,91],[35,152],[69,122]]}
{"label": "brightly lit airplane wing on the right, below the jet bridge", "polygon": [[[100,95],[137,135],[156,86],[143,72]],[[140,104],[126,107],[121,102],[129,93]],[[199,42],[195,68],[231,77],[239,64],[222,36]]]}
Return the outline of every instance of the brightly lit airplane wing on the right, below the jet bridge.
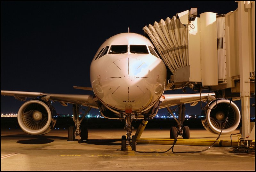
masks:
{"label": "brightly lit airplane wing on the right, below the jet bridge", "polygon": [[[199,101],[214,100],[215,93],[197,93],[197,94],[164,94],[164,101],[160,105],[160,109],[185,103],[195,106]],[[201,98],[200,98],[201,97]]]}

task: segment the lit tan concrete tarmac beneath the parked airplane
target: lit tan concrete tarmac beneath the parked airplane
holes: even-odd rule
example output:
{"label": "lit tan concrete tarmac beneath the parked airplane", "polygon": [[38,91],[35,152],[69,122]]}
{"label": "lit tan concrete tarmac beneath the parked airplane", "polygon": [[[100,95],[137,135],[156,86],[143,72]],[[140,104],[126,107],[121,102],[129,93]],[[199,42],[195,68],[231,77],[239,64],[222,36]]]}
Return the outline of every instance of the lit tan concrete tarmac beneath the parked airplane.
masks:
{"label": "lit tan concrete tarmac beneath the parked airplane", "polygon": [[[69,142],[68,129],[53,129],[43,136],[31,136],[21,129],[1,129],[1,171],[255,171],[255,151],[234,152],[233,147],[202,145],[174,145],[170,149],[172,144],[139,141],[136,150],[148,153],[132,151],[130,145],[127,151],[121,151],[122,135],[126,131],[120,128],[88,128],[88,141],[76,137]],[[146,127],[140,139],[169,137],[169,129]],[[205,129],[190,129],[192,140],[217,137]],[[230,134],[218,140],[230,140]],[[233,140],[237,141],[238,136],[232,135]]]}

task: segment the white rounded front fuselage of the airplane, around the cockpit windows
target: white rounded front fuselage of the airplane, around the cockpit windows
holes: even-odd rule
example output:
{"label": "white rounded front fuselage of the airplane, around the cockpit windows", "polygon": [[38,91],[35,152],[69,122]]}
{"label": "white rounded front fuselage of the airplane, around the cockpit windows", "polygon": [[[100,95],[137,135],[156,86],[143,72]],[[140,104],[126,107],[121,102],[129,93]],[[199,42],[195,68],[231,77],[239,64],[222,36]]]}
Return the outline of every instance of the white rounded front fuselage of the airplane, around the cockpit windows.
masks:
{"label": "white rounded front fuselage of the airplane, around the cockpit windows", "polygon": [[141,113],[163,95],[166,67],[144,36],[122,33],[106,40],[90,67],[93,92],[117,112]]}

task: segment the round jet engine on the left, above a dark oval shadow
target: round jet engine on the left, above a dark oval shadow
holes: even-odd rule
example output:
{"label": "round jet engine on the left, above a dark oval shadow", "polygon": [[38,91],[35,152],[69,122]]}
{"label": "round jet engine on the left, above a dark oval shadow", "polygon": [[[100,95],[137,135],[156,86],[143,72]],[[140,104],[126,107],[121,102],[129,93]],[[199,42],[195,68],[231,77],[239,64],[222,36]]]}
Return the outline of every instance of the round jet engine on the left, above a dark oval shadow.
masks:
{"label": "round jet engine on the left, above a dark oval shadow", "polygon": [[43,135],[56,124],[56,111],[47,101],[33,99],[20,106],[18,123],[20,128],[31,135]]}

